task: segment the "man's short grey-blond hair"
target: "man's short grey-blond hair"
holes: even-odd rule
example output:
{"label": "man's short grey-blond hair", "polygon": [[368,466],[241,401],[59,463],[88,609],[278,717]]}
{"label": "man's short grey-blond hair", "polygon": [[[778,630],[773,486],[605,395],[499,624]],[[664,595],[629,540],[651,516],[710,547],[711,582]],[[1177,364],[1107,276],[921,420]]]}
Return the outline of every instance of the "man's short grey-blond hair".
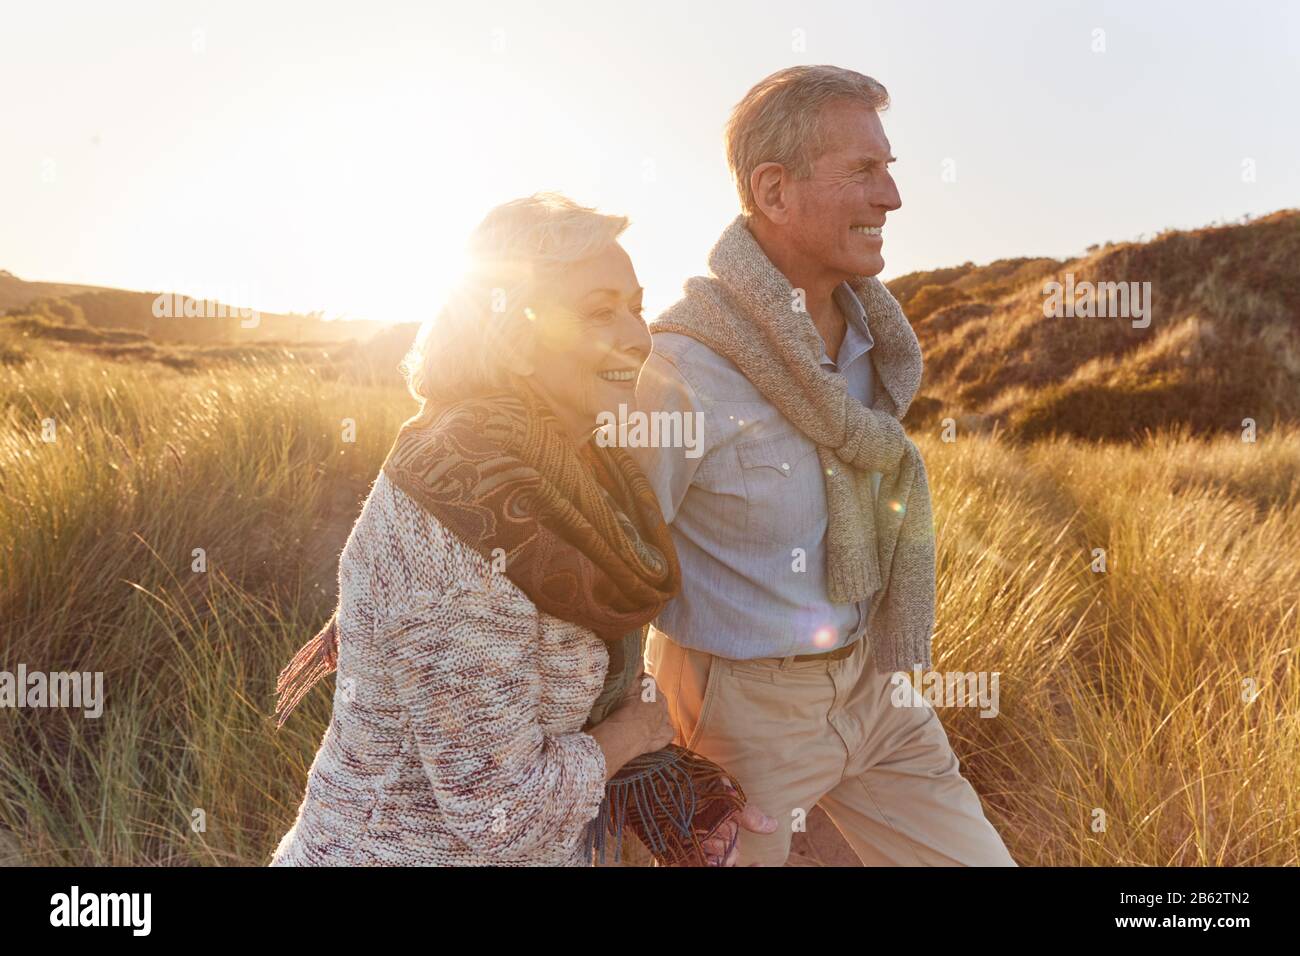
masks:
{"label": "man's short grey-blond hair", "polygon": [[841,66],[790,66],[760,79],[727,121],[727,164],[746,216],[758,212],[749,177],[763,163],[780,163],[807,178],[826,147],[822,109],[836,100],[889,105],[878,81]]}

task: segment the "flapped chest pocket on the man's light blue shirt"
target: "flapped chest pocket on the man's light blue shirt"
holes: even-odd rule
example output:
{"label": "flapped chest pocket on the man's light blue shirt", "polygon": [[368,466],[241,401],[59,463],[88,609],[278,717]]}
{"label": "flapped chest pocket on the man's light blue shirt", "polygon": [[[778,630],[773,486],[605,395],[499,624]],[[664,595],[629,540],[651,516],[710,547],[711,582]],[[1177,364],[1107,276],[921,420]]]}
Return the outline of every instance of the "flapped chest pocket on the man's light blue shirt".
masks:
{"label": "flapped chest pocket on the man's light blue shirt", "polygon": [[816,445],[786,432],[742,442],[736,454],[745,479],[746,537],[788,549],[814,546],[824,510]]}

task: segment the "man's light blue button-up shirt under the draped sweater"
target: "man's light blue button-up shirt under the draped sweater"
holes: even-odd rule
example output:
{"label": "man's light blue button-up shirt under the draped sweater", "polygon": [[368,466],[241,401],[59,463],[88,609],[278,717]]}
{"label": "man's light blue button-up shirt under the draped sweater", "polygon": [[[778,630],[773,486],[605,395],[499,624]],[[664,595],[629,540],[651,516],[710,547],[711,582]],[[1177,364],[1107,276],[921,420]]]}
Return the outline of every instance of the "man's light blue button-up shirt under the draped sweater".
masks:
{"label": "man's light blue button-up shirt under the draped sweater", "polygon": [[[870,406],[871,332],[845,284],[835,302],[846,319],[838,360]],[[826,480],[816,445],[728,359],[679,333],[654,337],[637,382],[641,411],[701,415],[698,458],[680,447],[630,447],[650,479],[681,561],[681,593],[655,627],[682,646],[749,659],[832,650],[858,640],[871,596],[832,604],[826,593]],[[692,451],[694,454],[694,451]],[[879,494],[880,476],[872,481]]]}

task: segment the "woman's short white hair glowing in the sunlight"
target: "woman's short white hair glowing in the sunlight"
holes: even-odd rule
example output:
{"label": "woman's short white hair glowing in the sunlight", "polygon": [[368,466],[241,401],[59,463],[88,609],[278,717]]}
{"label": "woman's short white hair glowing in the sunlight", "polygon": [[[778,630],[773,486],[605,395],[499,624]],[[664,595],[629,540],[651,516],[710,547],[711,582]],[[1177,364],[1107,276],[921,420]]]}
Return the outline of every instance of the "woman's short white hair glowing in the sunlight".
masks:
{"label": "woman's short white hair glowing in the sunlight", "polygon": [[599,255],[628,228],[558,193],[512,199],[489,212],[469,237],[469,267],[402,362],[422,407],[511,386],[504,358],[530,336],[530,303],[567,264]]}

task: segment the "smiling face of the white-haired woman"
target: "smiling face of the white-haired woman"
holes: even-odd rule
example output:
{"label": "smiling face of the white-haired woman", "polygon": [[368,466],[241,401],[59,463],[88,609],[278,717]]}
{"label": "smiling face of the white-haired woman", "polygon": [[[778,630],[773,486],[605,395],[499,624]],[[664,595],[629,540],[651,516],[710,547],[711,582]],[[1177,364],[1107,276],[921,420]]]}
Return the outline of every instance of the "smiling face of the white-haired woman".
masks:
{"label": "smiling face of the white-haired woman", "polygon": [[641,284],[623,247],[573,263],[533,306],[533,390],[578,441],[597,416],[633,405],[650,355]]}

